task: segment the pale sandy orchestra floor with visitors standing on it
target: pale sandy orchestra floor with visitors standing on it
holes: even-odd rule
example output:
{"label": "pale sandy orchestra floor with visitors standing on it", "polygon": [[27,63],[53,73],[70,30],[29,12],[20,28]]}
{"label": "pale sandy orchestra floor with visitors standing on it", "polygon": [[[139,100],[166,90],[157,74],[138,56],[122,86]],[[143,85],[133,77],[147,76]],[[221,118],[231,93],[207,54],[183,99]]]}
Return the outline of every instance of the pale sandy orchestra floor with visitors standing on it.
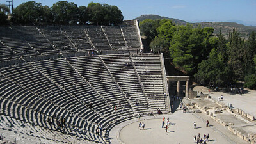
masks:
{"label": "pale sandy orchestra floor with visitors standing on it", "polygon": [[[161,128],[163,116],[169,117],[172,122],[167,133]],[[205,126],[206,120],[209,120],[211,127]],[[138,118],[113,127],[109,133],[111,143],[194,143],[193,136],[198,133],[201,137],[209,133],[211,141],[208,143],[247,143],[203,113],[185,114],[177,110],[173,115],[142,117],[140,122],[145,123],[145,130],[138,129]],[[193,128],[193,122],[197,124],[196,129]]]}

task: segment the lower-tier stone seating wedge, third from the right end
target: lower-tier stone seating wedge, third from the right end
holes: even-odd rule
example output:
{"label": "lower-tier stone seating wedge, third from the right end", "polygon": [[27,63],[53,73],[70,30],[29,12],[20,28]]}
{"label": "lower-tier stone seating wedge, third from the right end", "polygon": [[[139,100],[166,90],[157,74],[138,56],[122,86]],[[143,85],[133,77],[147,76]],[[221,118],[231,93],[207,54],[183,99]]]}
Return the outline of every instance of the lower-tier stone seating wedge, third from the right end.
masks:
{"label": "lower-tier stone seating wedge, third from the right end", "polygon": [[67,60],[99,95],[102,95],[104,100],[110,104],[111,108],[114,109],[114,107],[118,106],[118,103],[121,102],[122,108],[118,106],[119,116],[131,115],[133,113],[129,101],[113,81],[98,56],[68,58]]}

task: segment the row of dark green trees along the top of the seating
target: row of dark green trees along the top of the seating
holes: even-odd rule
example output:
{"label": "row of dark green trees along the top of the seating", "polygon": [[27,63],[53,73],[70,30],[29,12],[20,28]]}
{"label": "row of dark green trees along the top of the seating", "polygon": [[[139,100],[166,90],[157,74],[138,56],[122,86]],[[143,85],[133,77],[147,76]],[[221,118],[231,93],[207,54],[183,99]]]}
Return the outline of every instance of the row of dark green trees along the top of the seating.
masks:
{"label": "row of dark green trees along the top of the seating", "polygon": [[[1,7],[0,7],[1,8]],[[44,22],[47,24],[119,24],[124,17],[117,6],[108,4],[90,3],[88,6],[79,6],[73,2],[58,1],[51,7],[41,3],[28,1],[20,4],[13,10],[17,23]]]}

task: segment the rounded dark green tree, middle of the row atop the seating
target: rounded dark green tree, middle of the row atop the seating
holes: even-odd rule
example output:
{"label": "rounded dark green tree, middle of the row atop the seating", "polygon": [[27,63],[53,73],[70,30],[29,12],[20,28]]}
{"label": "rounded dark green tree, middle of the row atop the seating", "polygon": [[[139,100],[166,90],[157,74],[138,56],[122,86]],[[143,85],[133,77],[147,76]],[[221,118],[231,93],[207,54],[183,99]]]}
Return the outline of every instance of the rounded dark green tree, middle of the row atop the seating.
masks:
{"label": "rounded dark green tree, middle of the row atop the seating", "polygon": [[79,9],[73,2],[58,1],[51,7],[54,22],[58,24],[76,24],[79,17]]}

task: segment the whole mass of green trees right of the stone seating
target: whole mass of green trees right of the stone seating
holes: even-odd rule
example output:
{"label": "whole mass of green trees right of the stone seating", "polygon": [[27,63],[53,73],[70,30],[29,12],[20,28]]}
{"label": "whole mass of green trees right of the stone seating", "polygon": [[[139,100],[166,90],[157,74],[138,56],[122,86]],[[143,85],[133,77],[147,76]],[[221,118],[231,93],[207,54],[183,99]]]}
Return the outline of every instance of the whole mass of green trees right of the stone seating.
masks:
{"label": "whole mass of green trees right of the stone seating", "polygon": [[245,81],[255,88],[256,33],[241,39],[236,29],[229,37],[213,35],[213,28],[175,26],[166,19],[140,22],[141,35],[147,36],[152,52],[163,52],[175,67],[202,84],[225,85]]}

